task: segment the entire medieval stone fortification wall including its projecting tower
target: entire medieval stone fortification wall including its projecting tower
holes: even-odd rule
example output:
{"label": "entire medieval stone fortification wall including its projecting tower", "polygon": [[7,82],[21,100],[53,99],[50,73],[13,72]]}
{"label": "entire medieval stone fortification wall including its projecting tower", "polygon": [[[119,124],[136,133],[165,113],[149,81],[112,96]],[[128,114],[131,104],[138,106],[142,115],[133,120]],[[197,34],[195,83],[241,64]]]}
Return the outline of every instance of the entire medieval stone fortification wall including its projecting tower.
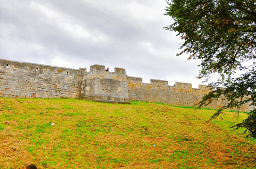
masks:
{"label": "entire medieval stone fortification wall including its projecting tower", "polygon": [[[105,66],[69,69],[48,65],[8,61],[0,59],[0,97],[12,98],[79,98],[107,102],[129,100],[162,102],[177,106],[193,106],[208,93],[206,85],[192,88],[189,83],[150,79],[142,83],[140,77],[129,77],[125,69],[105,71]],[[209,108],[219,108],[221,100],[215,100]],[[244,106],[241,111],[251,108]]]}

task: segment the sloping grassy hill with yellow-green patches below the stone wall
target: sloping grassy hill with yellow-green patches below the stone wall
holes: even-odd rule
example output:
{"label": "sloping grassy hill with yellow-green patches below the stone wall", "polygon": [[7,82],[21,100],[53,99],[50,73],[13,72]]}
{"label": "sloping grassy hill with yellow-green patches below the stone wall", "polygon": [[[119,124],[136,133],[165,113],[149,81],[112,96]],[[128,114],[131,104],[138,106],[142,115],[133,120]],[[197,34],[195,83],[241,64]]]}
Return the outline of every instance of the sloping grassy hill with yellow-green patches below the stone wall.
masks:
{"label": "sloping grassy hill with yellow-green patches below the stone wall", "polygon": [[206,123],[214,112],[0,98],[0,169],[255,169],[256,140],[230,128],[235,113]]}

